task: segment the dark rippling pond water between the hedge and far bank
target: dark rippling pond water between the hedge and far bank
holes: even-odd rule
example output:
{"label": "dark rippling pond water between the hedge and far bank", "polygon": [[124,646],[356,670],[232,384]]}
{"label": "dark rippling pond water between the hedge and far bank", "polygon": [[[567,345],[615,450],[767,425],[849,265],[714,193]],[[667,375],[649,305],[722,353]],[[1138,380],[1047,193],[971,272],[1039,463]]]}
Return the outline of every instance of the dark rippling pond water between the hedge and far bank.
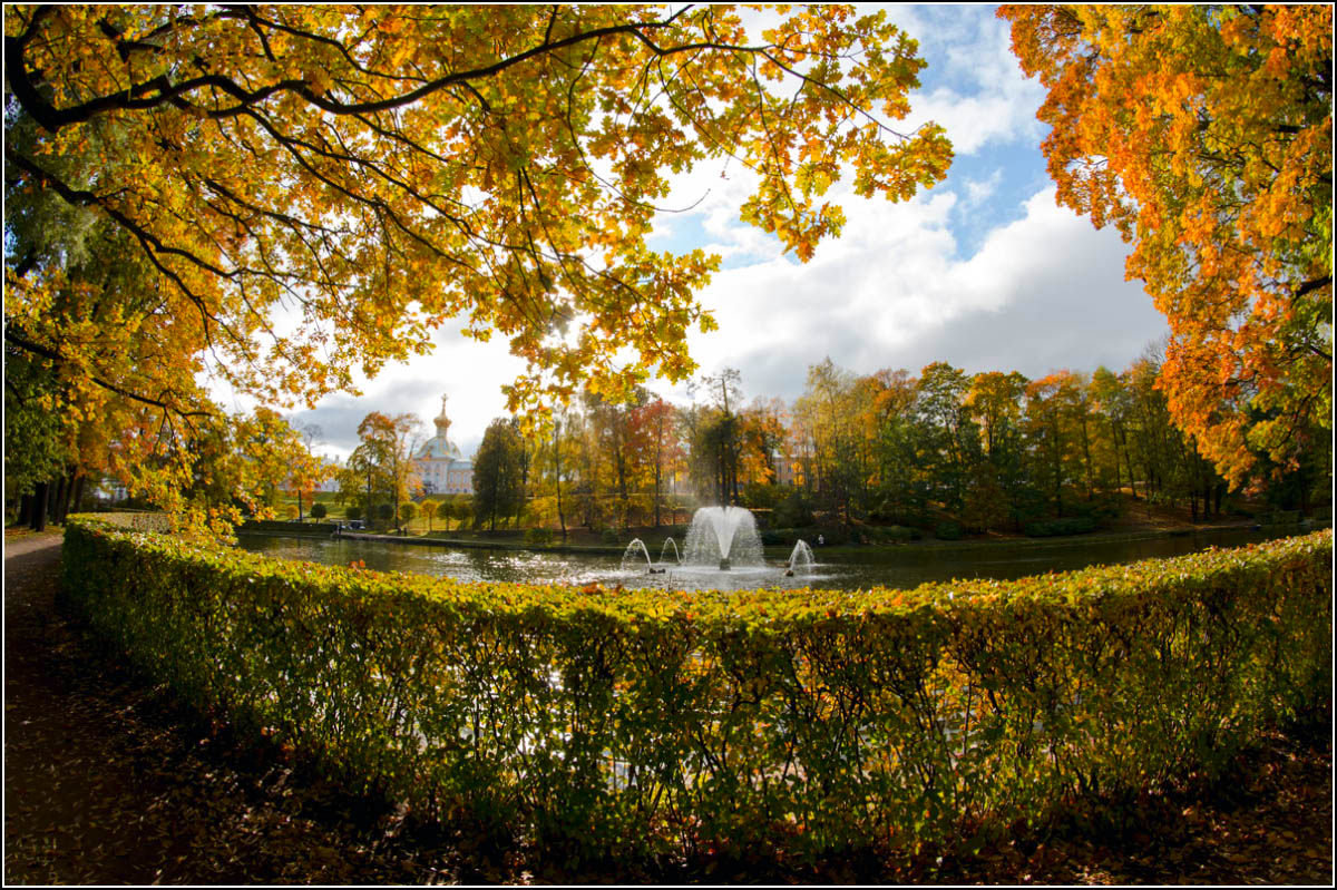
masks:
{"label": "dark rippling pond water between the hedge and far bank", "polygon": [[[869,548],[857,555],[828,556],[814,548],[812,573],[783,576],[787,551],[766,555],[763,568],[721,572],[714,568],[663,565],[663,573],[622,571],[620,557],[536,553],[529,551],[448,549],[382,541],[277,537],[239,535],[239,547],[286,560],[308,560],[328,565],[348,565],[361,560],[369,569],[449,576],[465,581],[527,581],[531,584],[599,583],[603,587],[650,587],[662,589],[733,591],[759,587],[910,588],[924,581],[992,577],[1012,579],[1044,572],[1062,572],[1087,565],[1131,563],[1142,559],[1178,556],[1207,547],[1239,547],[1278,535],[1226,529],[1178,537],[1146,540],[1082,540],[1016,547],[991,544],[979,548],[901,547]],[[658,565],[656,565],[658,568]]]}

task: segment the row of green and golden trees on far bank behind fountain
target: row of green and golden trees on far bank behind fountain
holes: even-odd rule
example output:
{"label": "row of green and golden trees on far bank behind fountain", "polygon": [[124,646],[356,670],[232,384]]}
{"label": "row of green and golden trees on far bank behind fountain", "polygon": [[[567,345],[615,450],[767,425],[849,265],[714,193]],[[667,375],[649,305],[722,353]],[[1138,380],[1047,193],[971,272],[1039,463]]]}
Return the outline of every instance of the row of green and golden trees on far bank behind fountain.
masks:
{"label": "row of green and golden trees on far bank behind fountain", "polygon": [[[1219,516],[1247,490],[1278,509],[1326,500],[1330,449],[1257,458],[1231,488],[1179,429],[1148,350],[1122,373],[967,374],[933,362],[852,374],[809,369],[793,404],[745,402],[741,376],[703,377],[675,406],[636,390],[586,394],[545,432],[499,418],[475,462],[473,520],[588,529],[683,521],[698,504],[770,510],[773,525],[880,523],[965,532],[1112,517],[1130,502]],[[1325,441],[1316,437],[1317,441]]]}

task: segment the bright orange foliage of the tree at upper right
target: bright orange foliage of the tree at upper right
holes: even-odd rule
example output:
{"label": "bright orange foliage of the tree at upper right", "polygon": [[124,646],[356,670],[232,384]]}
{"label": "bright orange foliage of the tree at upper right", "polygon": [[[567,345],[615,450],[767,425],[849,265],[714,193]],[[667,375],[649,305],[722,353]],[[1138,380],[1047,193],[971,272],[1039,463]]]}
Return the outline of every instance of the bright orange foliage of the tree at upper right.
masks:
{"label": "bright orange foliage of the tree at upper right", "polygon": [[1004,5],[1059,200],[1134,245],[1175,422],[1231,484],[1332,430],[1328,5]]}

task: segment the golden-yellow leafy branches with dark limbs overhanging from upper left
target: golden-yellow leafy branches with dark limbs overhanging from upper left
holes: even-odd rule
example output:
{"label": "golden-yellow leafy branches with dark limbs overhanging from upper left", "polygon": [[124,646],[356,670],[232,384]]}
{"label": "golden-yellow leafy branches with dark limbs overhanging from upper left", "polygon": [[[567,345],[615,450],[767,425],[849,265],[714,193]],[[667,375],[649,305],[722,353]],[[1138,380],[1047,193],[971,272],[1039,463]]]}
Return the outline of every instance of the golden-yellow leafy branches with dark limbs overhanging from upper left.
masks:
{"label": "golden-yellow leafy branches with dark limbs overhanging from upper left", "polygon": [[951,162],[894,128],[915,43],[852,7],[11,4],[4,64],[5,342],[59,410],[146,424],[217,414],[203,378],[312,405],[459,317],[528,362],[512,409],[683,380],[719,261],[648,249],[670,175],[746,168],[743,219],[806,261],[833,182]]}

